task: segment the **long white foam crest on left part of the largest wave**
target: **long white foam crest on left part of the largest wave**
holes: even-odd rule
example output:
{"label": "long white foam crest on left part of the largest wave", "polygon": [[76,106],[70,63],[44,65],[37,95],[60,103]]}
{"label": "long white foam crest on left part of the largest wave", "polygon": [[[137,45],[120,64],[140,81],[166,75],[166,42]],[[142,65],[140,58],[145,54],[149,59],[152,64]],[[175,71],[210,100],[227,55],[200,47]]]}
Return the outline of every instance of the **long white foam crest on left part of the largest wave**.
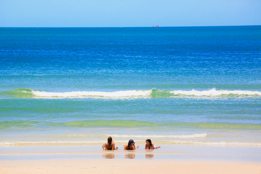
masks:
{"label": "long white foam crest on left part of the largest wave", "polygon": [[100,96],[100,97],[128,97],[128,96],[148,96],[152,90],[127,90],[116,92],[95,92],[95,91],[75,91],[65,93],[52,93],[32,90],[32,94],[39,97],[80,97],[80,96]]}

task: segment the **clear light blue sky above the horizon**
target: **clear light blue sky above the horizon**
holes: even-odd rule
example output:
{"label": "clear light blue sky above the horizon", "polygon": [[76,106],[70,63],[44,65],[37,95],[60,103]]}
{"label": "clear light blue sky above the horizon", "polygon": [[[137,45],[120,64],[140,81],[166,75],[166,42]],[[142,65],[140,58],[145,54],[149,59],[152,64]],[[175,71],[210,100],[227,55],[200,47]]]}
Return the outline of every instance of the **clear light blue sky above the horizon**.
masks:
{"label": "clear light blue sky above the horizon", "polygon": [[261,0],[0,0],[0,27],[261,25]]}

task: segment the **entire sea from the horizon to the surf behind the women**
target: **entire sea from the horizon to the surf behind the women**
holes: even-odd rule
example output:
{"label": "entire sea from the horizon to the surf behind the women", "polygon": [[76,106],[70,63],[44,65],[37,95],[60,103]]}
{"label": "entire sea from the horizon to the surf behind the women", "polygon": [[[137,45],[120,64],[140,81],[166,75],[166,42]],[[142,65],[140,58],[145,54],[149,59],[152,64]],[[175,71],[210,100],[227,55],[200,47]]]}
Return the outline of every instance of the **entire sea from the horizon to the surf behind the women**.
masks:
{"label": "entire sea from the horizon to the surf behind the women", "polygon": [[261,26],[0,28],[0,146],[261,146]]}

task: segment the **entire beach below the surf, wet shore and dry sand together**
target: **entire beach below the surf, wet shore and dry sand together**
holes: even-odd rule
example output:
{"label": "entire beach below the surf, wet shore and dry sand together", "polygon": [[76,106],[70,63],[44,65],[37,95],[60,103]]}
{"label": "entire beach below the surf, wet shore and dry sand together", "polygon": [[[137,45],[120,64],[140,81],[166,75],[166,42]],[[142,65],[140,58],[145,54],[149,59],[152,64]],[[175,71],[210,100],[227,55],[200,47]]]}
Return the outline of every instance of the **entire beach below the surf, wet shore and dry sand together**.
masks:
{"label": "entire beach below the surf, wet shore and dry sand together", "polygon": [[121,146],[115,151],[98,145],[6,146],[0,151],[0,173],[261,173],[258,146],[164,144],[155,150],[142,146],[134,151]]}

